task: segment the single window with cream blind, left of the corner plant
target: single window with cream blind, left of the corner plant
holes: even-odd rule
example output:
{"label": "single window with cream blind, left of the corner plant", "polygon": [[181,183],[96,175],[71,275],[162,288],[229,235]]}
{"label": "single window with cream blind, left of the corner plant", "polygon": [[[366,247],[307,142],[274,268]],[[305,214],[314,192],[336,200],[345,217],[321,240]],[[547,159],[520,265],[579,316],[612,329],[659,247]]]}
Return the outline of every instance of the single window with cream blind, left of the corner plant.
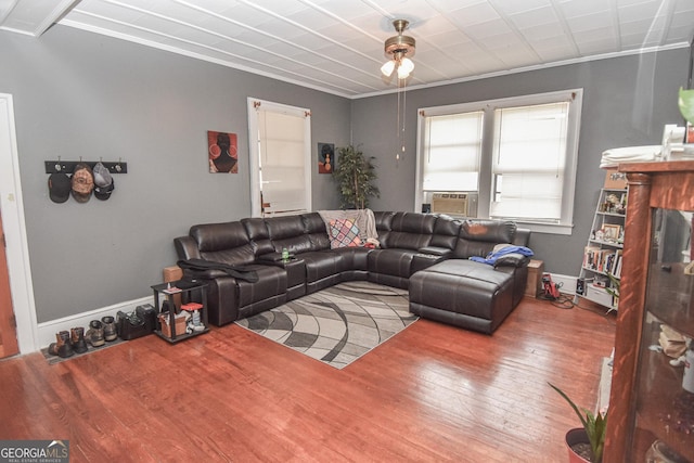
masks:
{"label": "single window with cream blind, left of the corner plant", "polygon": [[310,112],[248,99],[253,217],[311,210]]}

